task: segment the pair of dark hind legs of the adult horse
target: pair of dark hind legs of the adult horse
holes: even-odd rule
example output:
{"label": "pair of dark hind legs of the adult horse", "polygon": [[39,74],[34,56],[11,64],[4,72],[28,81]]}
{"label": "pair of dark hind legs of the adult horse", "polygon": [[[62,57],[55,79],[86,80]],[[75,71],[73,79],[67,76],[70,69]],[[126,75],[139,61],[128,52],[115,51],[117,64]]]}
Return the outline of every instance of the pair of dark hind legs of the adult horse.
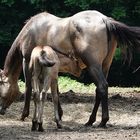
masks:
{"label": "pair of dark hind legs of the adult horse", "polygon": [[99,126],[105,127],[107,121],[109,120],[109,111],[108,111],[108,83],[102,72],[102,68],[99,65],[89,67],[90,74],[93,77],[96,88],[96,101],[92,111],[92,114],[86,123],[86,126],[92,125],[96,121],[96,114],[98,111],[99,104],[102,104],[102,120]]}

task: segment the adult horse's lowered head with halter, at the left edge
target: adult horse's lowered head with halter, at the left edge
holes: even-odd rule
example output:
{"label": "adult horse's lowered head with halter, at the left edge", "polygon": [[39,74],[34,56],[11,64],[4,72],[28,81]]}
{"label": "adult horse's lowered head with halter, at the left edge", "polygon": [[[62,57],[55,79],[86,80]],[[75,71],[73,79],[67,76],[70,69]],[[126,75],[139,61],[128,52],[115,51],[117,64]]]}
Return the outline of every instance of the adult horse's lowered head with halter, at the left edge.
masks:
{"label": "adult horse's lowered head with halter, at the left edge", "polygon": [[6,109],[14,101],[18,93],[17,84],[11,84],[3,70],[0,69],[0,114],[4,115]]}

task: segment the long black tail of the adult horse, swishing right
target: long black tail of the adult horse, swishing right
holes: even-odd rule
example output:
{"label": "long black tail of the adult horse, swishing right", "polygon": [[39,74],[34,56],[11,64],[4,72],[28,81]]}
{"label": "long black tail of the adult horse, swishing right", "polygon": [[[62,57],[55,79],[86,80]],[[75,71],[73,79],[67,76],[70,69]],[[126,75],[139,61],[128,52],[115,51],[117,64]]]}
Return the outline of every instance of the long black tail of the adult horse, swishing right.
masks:
{"label": "long black tail of the adult horse, swishing right", "polygon": [[115,21],[112,18],[104,20],[107,28],[108,41],[112,35],[116,38],[118,46],[121,46],[125,59],[132,60],[132,50],[140,50],[140,27],[128,26],[124,23]]}

